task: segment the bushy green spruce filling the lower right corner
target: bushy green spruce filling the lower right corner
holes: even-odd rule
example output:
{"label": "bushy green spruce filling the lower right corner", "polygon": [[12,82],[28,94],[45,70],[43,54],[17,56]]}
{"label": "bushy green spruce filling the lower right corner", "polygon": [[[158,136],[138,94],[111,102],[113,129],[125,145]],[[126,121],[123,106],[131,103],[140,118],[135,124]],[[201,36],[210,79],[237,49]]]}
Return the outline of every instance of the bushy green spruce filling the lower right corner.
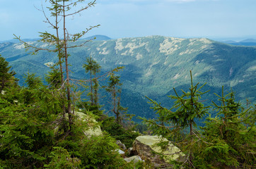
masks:
{"label": "bushy green spruce filling the lower right corner", "polygon": [[256,112],[235,101],[233,91],[212,101],[217,116],[206,119],[202,134],[206,144],[197,154],[197,165],[207,168],[254,168]]}

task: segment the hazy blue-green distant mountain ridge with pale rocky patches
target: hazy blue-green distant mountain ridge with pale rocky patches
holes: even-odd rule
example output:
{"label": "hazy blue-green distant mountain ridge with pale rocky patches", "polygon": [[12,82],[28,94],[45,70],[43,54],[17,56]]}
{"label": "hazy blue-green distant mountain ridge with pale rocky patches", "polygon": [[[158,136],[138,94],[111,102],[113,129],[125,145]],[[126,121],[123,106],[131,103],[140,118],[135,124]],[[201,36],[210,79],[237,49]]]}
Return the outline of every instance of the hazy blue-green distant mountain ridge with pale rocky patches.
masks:
{"label": "hazy blue-green distant mountain ridge with pale rocky patches", "polygon": [[[41,42],[28,43],[46,46]],[[74,79],[88,78],[82,68],[88,56],[100,63],[102,74],[124,66],[119,73],[123,83],[122,104],[129,107],[129,113],[136,115],[154,117],[144,96],[170,107],[173,101],[167,96],[174,94],[173,87],[177,91],[188,90],[190,70],[194,83],[207,82],[202,90],[211,89],[204,98],[205,104],[216,101],[214,92],[221,94],[222,85],[226,91],[235,90],[238,100],[256,100],[256,46],[233,46],[205,38],[150,36],[92,41],[86,46],[70,49],[69,53],[71,77]],[[23,44],[13,42],[1,43],[0,54],[10,62],[21,83],[24,73],[29,71],[44,76],[50,70],[46,63],[57,62],[56,54],[40,51],[32,56],[25,51]],[[106,80],[100,83],[104,85]],[[107,106],[105,100],[102,103]]]}

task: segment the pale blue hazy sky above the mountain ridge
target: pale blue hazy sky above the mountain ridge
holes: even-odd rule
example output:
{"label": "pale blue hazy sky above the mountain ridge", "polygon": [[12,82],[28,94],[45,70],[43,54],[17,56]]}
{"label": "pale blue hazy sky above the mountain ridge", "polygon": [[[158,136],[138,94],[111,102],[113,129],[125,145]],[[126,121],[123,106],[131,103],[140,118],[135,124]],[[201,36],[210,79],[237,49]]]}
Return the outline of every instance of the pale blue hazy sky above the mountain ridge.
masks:
{"label": "pale blue hazy sky above the mountain ridge", "polygon": [[[88,2],[88,1],[86,1]],[[97,0],[68,21],[71,33],[100,24],[86,37],[207,37],[256,39],[256,0]],[[0,0],[0,41],[37,38],[51,32],[44,23],[45,0]]]}

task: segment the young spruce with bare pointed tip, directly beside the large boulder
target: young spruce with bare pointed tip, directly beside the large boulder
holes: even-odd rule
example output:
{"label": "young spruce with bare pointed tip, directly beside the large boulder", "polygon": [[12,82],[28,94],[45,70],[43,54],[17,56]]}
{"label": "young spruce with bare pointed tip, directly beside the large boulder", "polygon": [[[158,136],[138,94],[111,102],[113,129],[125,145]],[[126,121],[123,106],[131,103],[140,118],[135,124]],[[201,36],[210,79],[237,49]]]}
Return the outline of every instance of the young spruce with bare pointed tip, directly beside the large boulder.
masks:
{"label": "young spruce with bare pointed tip, directly beside the large boulder", "polygon": [[[185,161],[182,162],[183,167],[192,168],[194,153],[198,151],[201,147],[201,138],[197,130],[195,119],[201,119],[206,113],[208,113],[209,106],[204,106],[201,99],[202,95],[206,92],[200,92],[199,90],[204,87],[204,83],[201,87],[198,87],[199,83],[193,84],[192,71],[190,71],[190,89],[188,92],[182,90],[182,95],[179,96],[175,88],[174,92],[176,96],[170,95],[171,99],[174,99],[174,105],[168,109],[161,106],[161,103],[157,103],[152,99],[149,99],[153,110],[158,114],[158,118],[154,120],[148,120],[146,118],[141,118],[149,126],[154,134],[160,137],[165,137],[180,147],[182,152],[187,155]],[[187,133],[187,128],[190,132]],[[161,142],[159,144],[163,149],[166,148],[168,142]],[[177,163],[177,162],[175,162]]]}

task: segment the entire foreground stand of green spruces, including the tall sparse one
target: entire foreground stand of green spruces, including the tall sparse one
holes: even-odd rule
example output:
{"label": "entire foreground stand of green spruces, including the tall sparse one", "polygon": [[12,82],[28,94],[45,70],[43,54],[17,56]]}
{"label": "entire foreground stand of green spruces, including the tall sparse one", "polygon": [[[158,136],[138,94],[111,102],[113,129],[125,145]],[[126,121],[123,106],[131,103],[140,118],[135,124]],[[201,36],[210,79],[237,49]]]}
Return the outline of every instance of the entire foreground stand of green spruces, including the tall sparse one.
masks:
{"label": "entire foreground stand of green spruces, including the tall sparse one", "polygon": [[[45,79],[28,72],[24,84],[18,84],[16,72],[0,56],[0,168],[161,168],[144,156],[128,163],[124,158],[132,155],[119,153],[117,140],[132,147],[141,135],[157,135],[161,152],[170,142],[180,149],[175,154],[182,153],[182,159],[168,159],[165,168],[256,168],[256,108],[250,101],[242,106],[235,100],[235,91],[222,87],[206,106],[202,98],[211,91],[204,90],[206,83],[195,82],[190,71],[190,87],[173,88],[167,96],[170,108],[146,96],[156,118],[139,117],[142,123],[134,123],[134,115],[122,106],[119,73],[125,71],[123,66],[100,73],[101,65],[88,56],[83,69],[89,78],[69,76],[69,50],[93,40],[76,43],[100,25],[71,34],[66,20],[93,7],[95,1],[50,0],[44,5],[42,13],[54,30],[40,32],[39,41],[47,47],[15,36],[25,49],[33,49],[32,54],[47,51],[57,58]],[[104,86],[99,83],[102,77]],[[110,111],[100,105],[100,99],[110,102]],[[161,152],[154,155],[165,161],[175,155]]]}

